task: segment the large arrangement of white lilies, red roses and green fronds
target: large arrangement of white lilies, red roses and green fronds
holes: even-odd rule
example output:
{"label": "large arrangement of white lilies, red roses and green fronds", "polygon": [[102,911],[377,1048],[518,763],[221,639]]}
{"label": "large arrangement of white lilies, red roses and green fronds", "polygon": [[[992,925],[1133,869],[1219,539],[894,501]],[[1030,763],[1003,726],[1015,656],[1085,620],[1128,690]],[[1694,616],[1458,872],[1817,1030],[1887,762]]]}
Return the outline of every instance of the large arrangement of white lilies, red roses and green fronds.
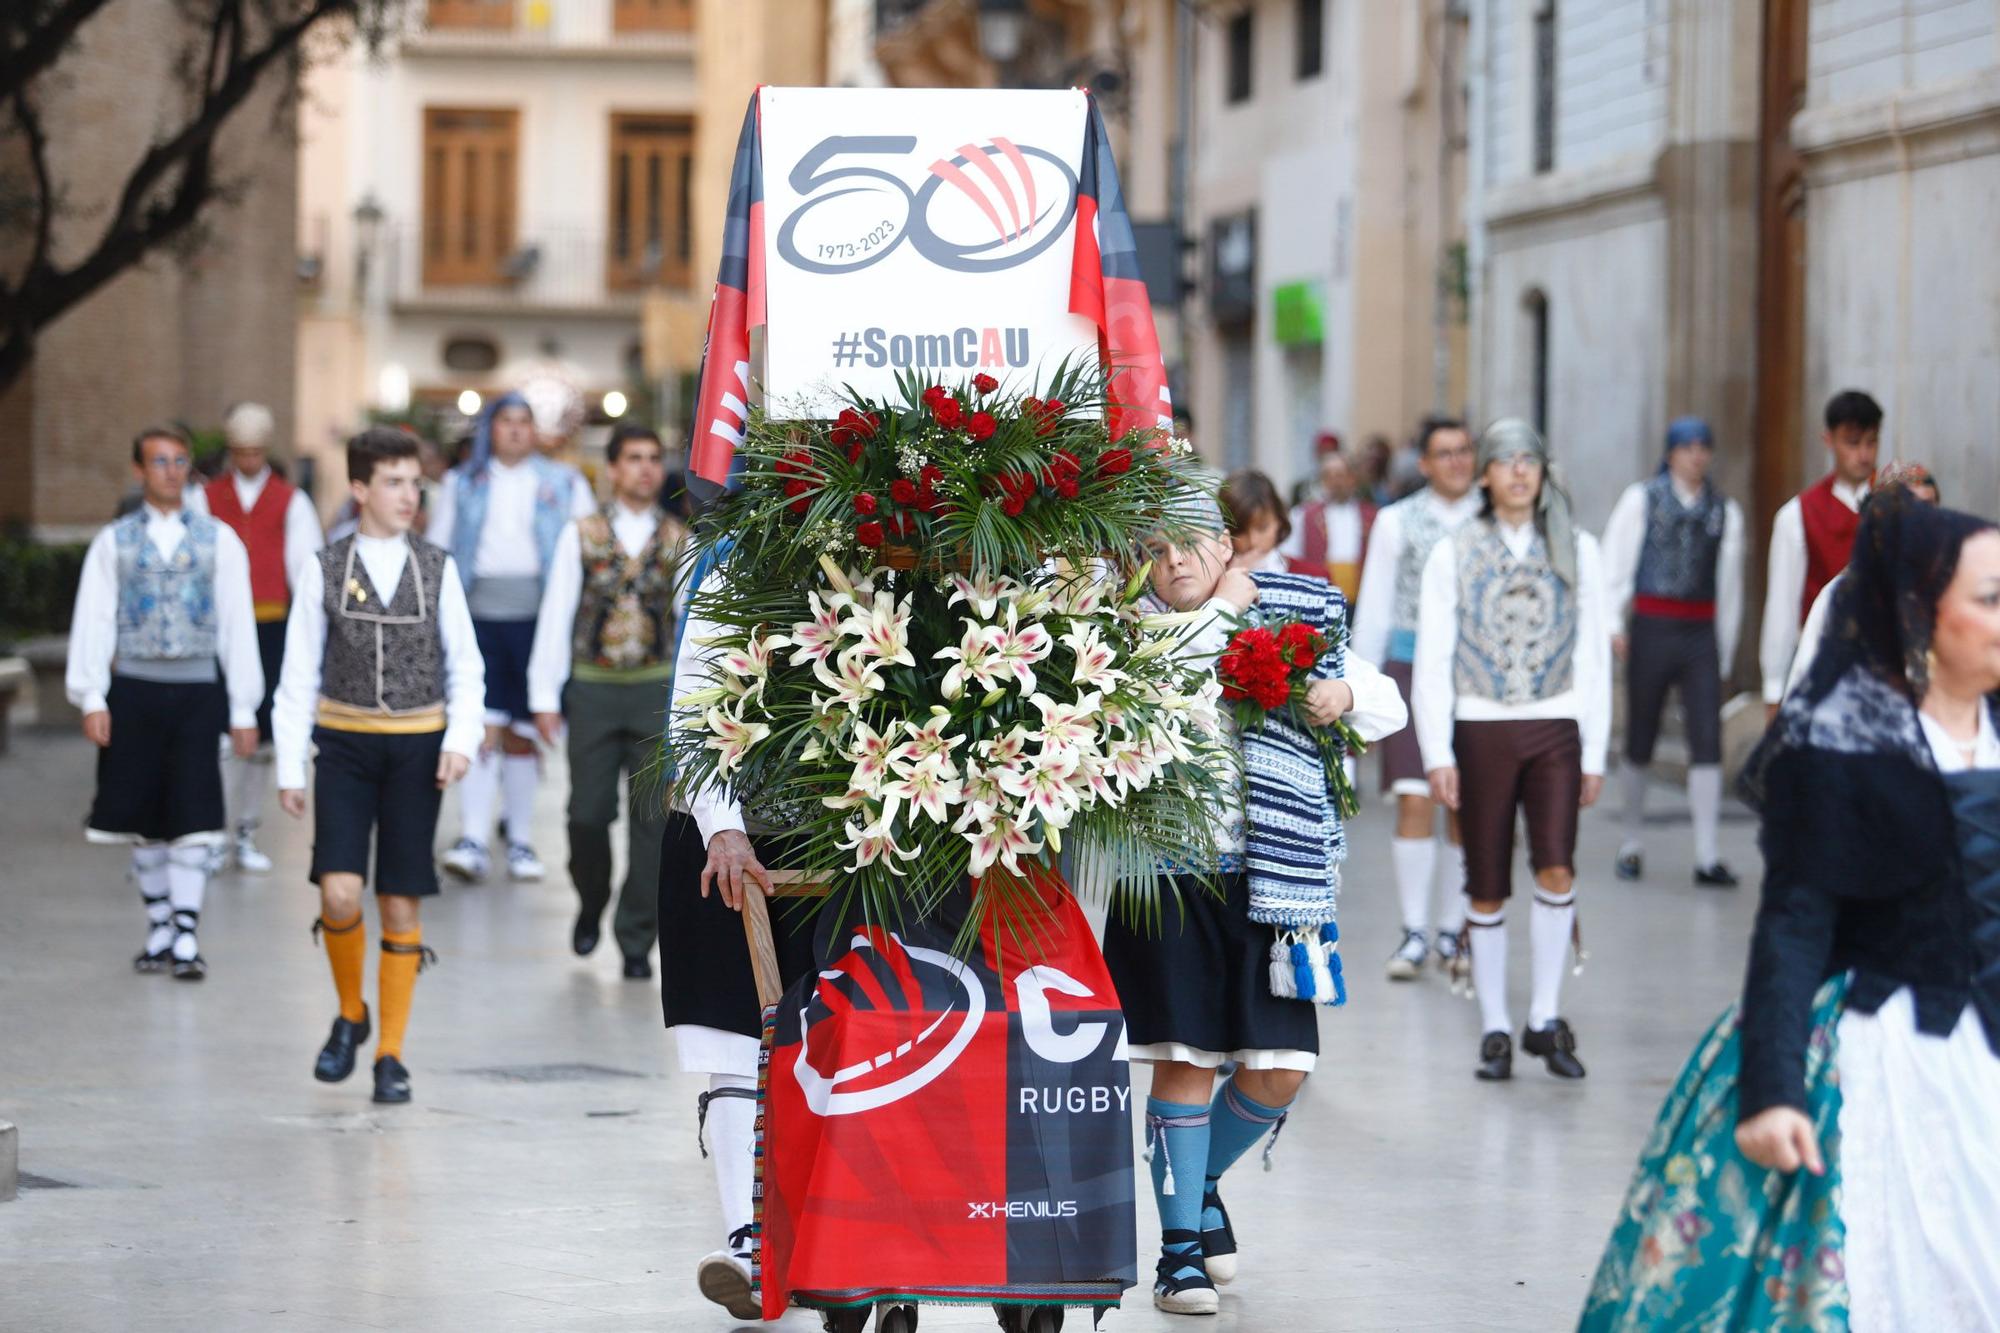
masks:
{"label": "large arrangement of white lilies, red roses and green fronds", "polygon": [[1134,554],[1190,534],[1202,482],[1164,438],[1108,438],[1102,406],[1064,368],[754,420],[698,536],[712,681],[670,729],[678,781],[766,811],[784,869],[874,919],[970,885],[962,939],[1058,881],[1150,915],[1164,875],[1210,865],[1220,685],[1172,650],[1188,614],[1146,612]]}

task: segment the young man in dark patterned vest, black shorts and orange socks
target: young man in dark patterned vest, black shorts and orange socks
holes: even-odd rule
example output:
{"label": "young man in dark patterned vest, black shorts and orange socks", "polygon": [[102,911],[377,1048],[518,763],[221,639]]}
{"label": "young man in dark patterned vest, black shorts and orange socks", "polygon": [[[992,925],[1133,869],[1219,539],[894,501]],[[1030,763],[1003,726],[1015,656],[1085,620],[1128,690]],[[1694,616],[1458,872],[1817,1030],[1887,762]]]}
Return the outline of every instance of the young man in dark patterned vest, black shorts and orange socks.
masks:
{"label": "young man in dark patterned vest, black shorts and orange socks", "polygon": [[430,859],[444,789],[466,775],[484,731],[486,677],[452,556],[410,536],[422,474],[416,440],[374,428],[348,440],[354,534],[318,554],[318,586],[292,600],[284,675],[272,711],[278,803],[306,813],[306,753],[318,751],[312,883],[314,935],[326,945],[340,1017],[312,1075],[340,1083],[368,1041],[362,1003],[368,933],[362,889],[374,841],[382,963],[374,1099],[410,1101],[402,1037],[426,959],[418,915],[438,893]]}

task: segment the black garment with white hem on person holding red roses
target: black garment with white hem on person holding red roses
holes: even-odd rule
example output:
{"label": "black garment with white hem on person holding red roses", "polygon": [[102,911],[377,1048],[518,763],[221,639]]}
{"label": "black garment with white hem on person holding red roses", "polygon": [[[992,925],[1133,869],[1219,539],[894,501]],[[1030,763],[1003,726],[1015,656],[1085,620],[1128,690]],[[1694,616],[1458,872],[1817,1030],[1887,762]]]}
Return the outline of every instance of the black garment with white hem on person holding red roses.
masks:
{"label": "black garment with white hem on person holding red roses", "polygon": [[1250,921],[1250,881],[1222,877],[1218,899],[1194,877],[1174,881],[1158,931],[1104,923],[1134,1059],[1250,1069],[1310,1069],[1320,1051],[1318,1007],[1270,993],[1274,933]]}

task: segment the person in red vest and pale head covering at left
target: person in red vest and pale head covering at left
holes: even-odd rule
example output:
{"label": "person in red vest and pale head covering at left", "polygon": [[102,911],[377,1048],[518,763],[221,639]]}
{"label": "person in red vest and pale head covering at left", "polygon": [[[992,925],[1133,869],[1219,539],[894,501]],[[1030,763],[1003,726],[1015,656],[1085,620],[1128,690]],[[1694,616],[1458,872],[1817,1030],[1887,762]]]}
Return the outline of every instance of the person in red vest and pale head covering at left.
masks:
{"label": "person in red vest and pale head covering at left", "polygon": [[[208,486],[188,492],[188,508],[206,512],[242,538],[250,552],[250,600],[256,608],[256,650],[264,664],[264,707],[256,711],[258,749],[248,759],[222,761],[222,797],[236,837],[236,869],[262,875],[270,857],[258,851],[270,787],[270,701],[284,666],[284,618],[292,608],[292,578],[326,540],[306,492],[270,468],[276,418],[262,402],[238,402],[222,418],[230,466]],[[220,869],[220,867],[218,867]]]}

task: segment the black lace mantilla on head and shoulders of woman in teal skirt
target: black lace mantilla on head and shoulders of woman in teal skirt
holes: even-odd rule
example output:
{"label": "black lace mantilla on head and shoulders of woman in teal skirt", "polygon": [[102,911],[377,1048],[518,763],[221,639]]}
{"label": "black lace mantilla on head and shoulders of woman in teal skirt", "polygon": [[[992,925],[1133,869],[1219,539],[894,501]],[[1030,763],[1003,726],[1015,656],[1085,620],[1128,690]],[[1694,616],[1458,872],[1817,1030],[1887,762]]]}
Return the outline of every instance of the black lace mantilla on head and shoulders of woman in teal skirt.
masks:
{"label": "black lace mantilla on head and shoulders of woman in teal skirt", "polygon": [[1868,496],[1820,652],[1744,765],[1738,793],[1748,805],[1764,809],[1774,765],[1812,743],[1820,705],[1844,685],[1854,689],[1836,701],[1842,749],[1918,751],[1916,705],[1930,689],[1938,598],[1958,572],[1958,550],[1992,526],[1904,486]]}

